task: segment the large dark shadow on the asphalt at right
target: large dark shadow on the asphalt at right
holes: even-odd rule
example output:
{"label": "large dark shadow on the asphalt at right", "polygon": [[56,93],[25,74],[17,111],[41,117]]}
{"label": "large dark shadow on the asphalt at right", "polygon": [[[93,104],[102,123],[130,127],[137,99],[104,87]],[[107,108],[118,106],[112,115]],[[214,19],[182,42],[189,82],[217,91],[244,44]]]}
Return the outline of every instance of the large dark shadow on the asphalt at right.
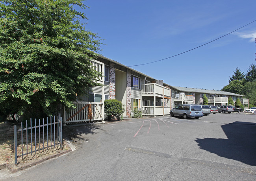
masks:
{"label": "large dark shadow on the asphalt at right", "polygon": [[233,122],[221,126],[228,139],[196,139],[201,149],[256,166],[256,124]]}

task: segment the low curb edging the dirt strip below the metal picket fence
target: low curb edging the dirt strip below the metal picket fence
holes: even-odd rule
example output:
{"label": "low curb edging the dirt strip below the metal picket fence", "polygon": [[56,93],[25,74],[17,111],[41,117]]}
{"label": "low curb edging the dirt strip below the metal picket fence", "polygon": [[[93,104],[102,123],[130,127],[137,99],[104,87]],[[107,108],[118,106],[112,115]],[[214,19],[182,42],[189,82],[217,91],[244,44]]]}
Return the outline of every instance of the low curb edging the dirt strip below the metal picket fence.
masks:
{"label": "low curb edging the dirt strip below the metal picket fence", "polygon": [[54,158],[54,157],[59,157],[59,156],[61,156],[61,155],[64,155],[64,154],[66,154],[66,153],[69,153],[70,151],[71,151],[71,148],[69,148],[68,150],[63,151],[63,152],[61,152],[61,153],[58,153],[58,154],[55,154],[55,155],[50,155],[50,156],[48,156],[48,157],[45,157],[44,159],[41,159],[41,160],[36,161],[36,162],[34,162],[34,163],[29,163],[29,164],[27,164],[27,165],[21,166],[21,167],[19,167],[19,168],[15,168],[15,166],[13,166],[13,165],[11,165],[11,164],[3,164],[3,165],[0,165],[0,169],[3,169],[3,168],[6,168],[6,167],[7,167],[8,170],[9,170],[12,174],[14,174],[14,173],[16,173],[16,172],[18,172],[18,171],[20,171],[20,170],[24,170],[24,169],[29,168],[29,167],[31,167],[31,166],[35,166],[35,165],[37,165],[37,164],[39,164],[39,163],[43,163],[43,162],[46,161],[46,160],[52,159],[52,158]]}

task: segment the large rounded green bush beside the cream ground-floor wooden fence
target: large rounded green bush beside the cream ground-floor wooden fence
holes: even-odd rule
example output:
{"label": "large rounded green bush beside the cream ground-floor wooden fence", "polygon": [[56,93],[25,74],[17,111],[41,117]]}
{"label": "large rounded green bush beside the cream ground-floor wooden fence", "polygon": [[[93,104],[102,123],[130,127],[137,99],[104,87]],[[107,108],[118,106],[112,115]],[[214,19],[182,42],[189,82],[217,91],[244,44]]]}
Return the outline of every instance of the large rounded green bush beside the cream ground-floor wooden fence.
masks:
{"label": "large rounded green bush beside the cream ground-floor wooden fence", "polygon": [[105,100],[104,111],[105,114],[108,116],[108,120],[111,120],[114,116],[117,117],[117,119],[120,119],[125,111],[124,104],[116,99]]}

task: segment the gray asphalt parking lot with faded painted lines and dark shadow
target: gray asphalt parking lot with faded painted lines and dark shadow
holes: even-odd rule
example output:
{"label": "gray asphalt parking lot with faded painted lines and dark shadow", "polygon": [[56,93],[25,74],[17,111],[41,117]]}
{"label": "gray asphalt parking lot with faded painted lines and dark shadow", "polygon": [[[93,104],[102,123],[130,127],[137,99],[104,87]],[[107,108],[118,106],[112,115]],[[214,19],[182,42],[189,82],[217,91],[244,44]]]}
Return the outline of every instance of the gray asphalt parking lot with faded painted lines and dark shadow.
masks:
{"label": "gray asphalt parking lot with faded painted lines and dark shadow", "polygon": [[255,120],[216,113],[72,126],[76,150],[6,179],[255,180]]}

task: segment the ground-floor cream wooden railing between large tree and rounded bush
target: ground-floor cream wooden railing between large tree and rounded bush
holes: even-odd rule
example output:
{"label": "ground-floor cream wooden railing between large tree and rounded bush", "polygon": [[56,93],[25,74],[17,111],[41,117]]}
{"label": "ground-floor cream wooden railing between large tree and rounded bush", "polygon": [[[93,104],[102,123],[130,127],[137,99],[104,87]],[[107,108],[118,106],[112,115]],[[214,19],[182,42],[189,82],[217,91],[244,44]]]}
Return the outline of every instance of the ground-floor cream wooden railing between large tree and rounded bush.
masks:
{"label": "ground-floor cream wooden railing between large tree and rounded bush", "polygon": [[75,102],[74,104],[76,109],[65,111],[64,123],[103,120],[103,103]]}

